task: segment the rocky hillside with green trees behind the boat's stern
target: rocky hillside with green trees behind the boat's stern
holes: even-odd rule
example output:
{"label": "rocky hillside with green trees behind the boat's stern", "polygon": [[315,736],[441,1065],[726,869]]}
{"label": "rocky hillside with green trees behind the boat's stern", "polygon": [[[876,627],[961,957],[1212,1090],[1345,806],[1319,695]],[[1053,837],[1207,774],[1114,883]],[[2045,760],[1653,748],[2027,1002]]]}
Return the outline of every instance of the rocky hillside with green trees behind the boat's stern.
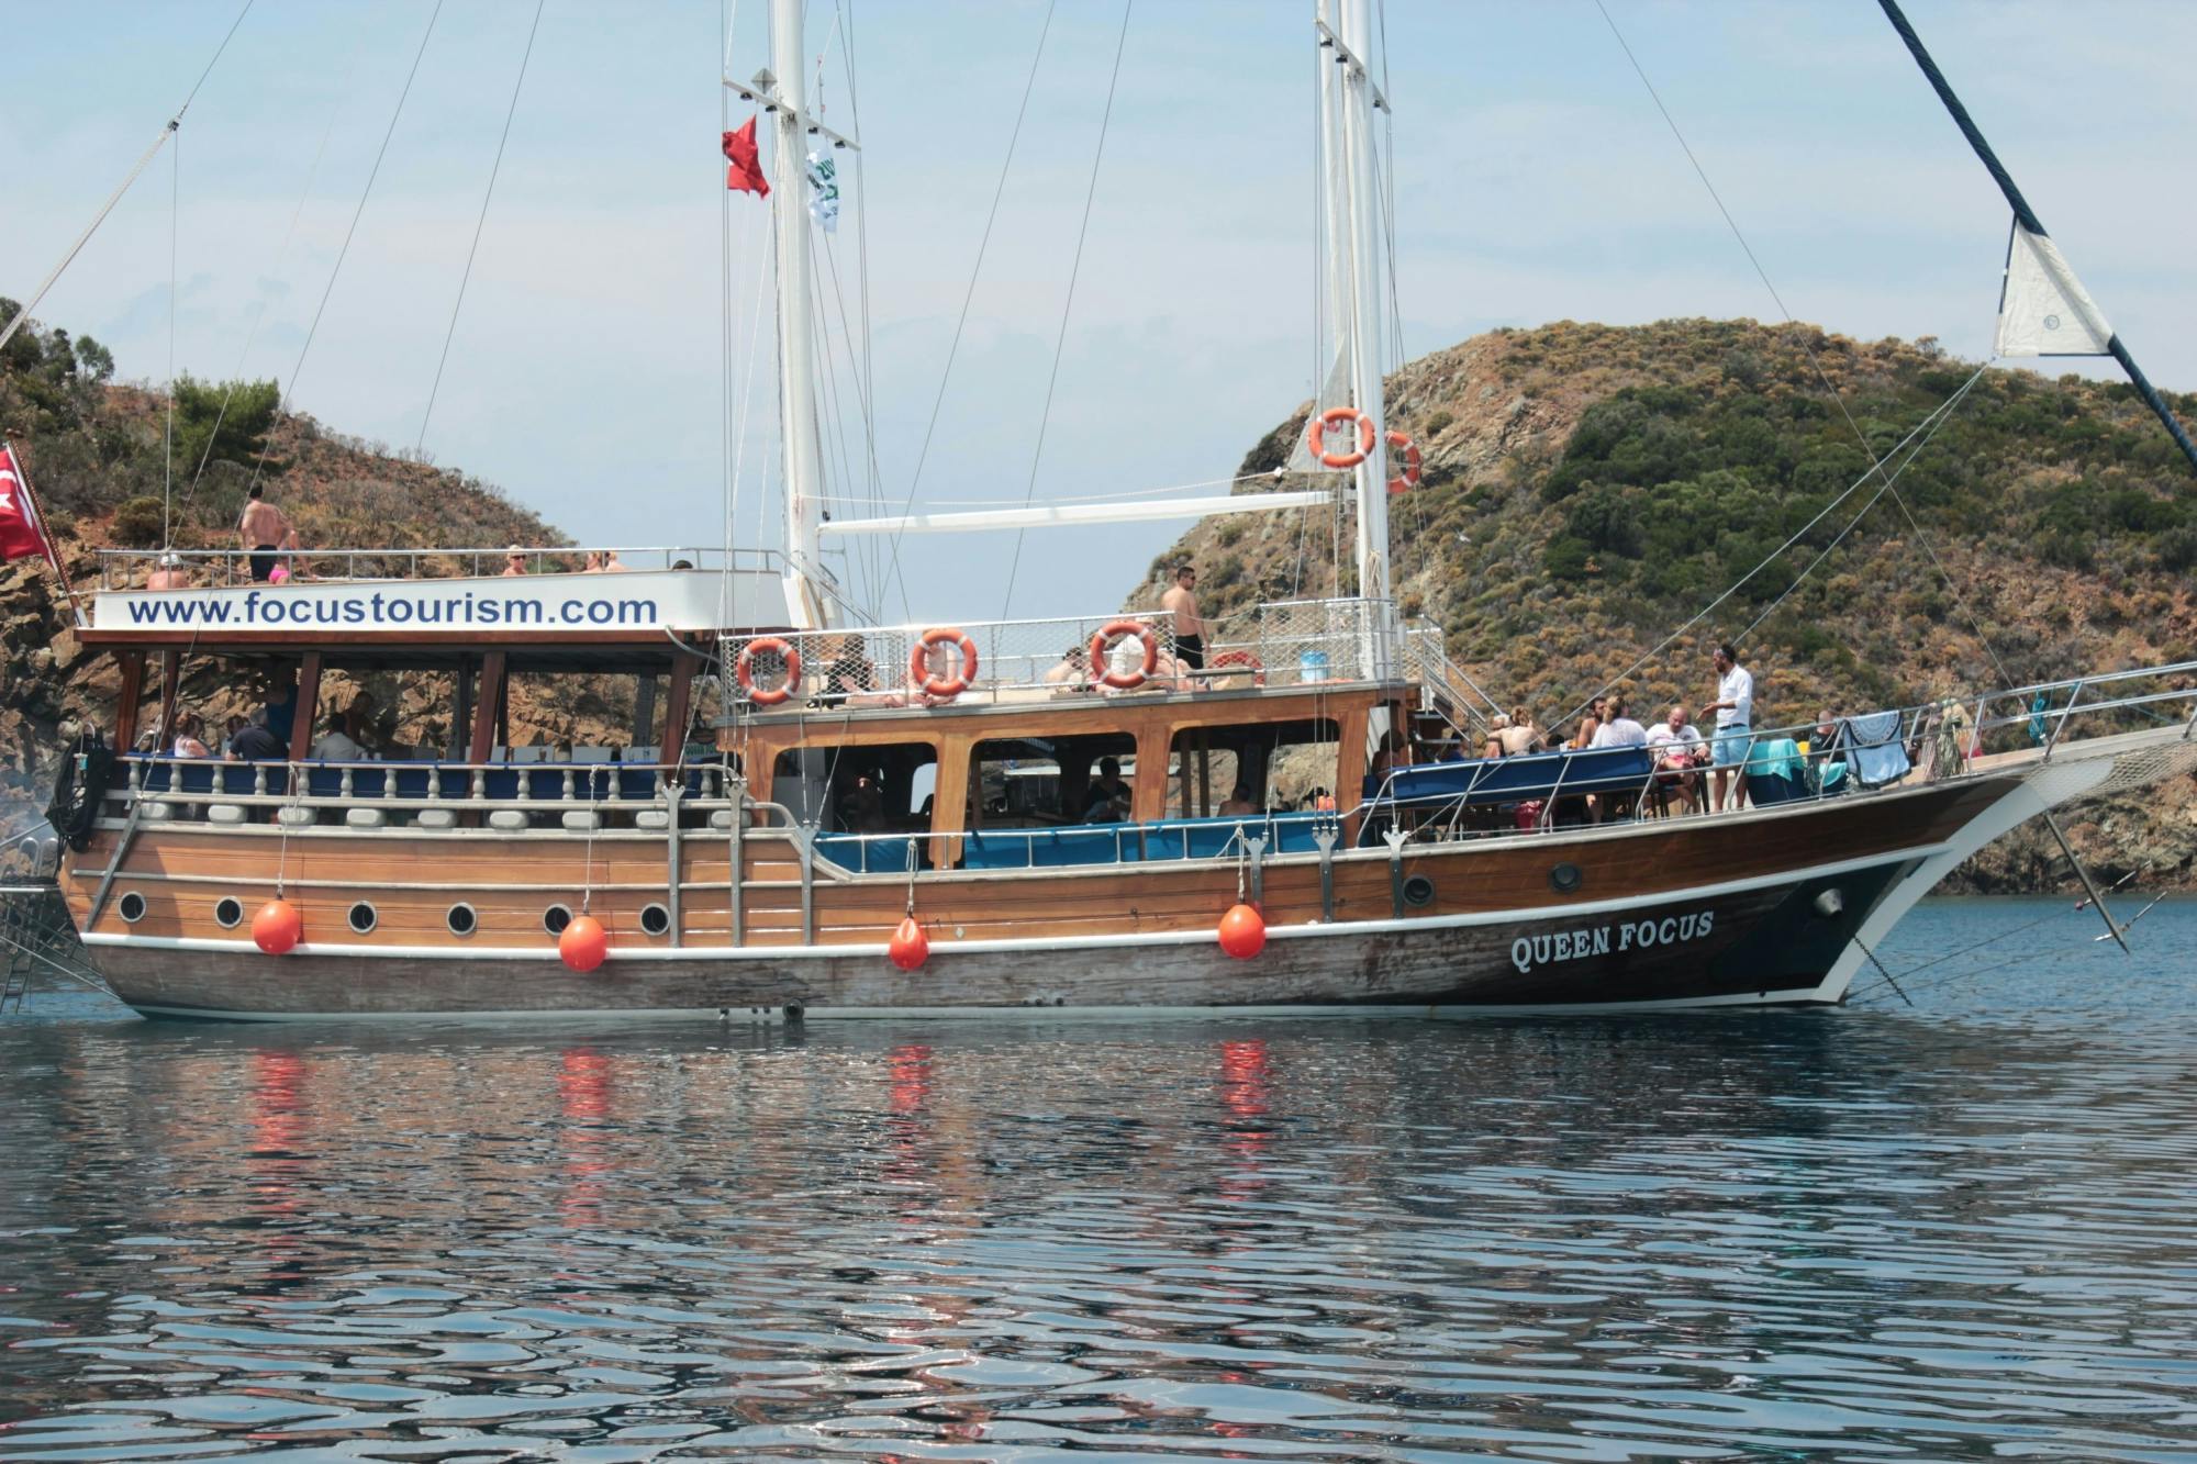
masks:
{"label": "rocky hillside with green trees behind the boat's stern", "polygon": [[[15,314],[0,301],[0,319]],[[99,583],[103,547],[156,547],[167,479],[167,396],[112,380],[88,336],[29,325],[0,352],[0,431],[22,453],[79,587]],[[176,391],[174,536],[178,550],[235,547],[253,477],[297,521],[305,545],[556,545],[562,534],[501,490],[391,455],[279,411],[275,382],[193,382]],[[204,464],[204,468],[200,468]],[[42,561],[0,567],[0,835],[44,809],[64,723],[108,723],[119,695],[110,657],[86,653]],[[446,712],[400,677],[378,677],[380,736],[439,743]],[[250,688],[187,666],[182,701],[220,723]],[[343,697],[330,686],[327,697]],[[602,741],[628,719],[613,686],[547,699],[514,688],[516,741]]]}

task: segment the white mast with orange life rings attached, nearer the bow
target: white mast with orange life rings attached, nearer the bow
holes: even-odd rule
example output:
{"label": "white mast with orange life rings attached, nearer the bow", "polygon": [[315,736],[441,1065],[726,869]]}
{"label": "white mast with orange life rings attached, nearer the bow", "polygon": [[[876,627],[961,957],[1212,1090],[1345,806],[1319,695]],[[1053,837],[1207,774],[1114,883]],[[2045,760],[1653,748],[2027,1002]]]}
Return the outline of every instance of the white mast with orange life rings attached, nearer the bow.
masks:
{"label": "white mast with orange life rings attached, nearer the bow", "polygon": [[1349,270],[1349,350],[1353,407],[1373,422],[1373,451],[1358,464],[1358,594],[1389,598],[1389,422],[1382,402],[1380,341],[1380,187],[1373,167],[1375,90],[1367,62],[1373,55],[1373,0],[1336,0],[1342,15],[1342,106],[1340,156],[1347,251],[1334,251],[1329,268]]}

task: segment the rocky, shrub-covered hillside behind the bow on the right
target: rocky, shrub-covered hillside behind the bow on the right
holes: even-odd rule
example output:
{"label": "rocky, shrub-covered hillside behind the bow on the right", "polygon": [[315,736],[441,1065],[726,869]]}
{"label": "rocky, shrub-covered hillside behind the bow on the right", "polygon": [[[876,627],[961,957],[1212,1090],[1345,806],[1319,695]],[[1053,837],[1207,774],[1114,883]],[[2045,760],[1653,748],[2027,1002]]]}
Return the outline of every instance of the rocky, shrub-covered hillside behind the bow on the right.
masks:
{"label": "rocky, shrub-covered hillside behind the bow on the right", "polygon": [[[2120,385],[1982,371],[1898,497],[1861,512],[1872,484],[1777,552],[1867,470],[1856,426],[1887,453],[1975,374],[1933,341],[1813,325],[1476,336],[1389,380],[1391,424],[1426,457],[1424,484],[1391,499],[1395,589],[1474,679],[1544,725],[1613,679],[1637,706],[1698,706],[1718,640],[1742,642],[1758,725],[2197,657],[2197,484]],[[2197,398],[2175,404],[2197,415]],[[1303,429],[1298,409],[1244,473],[1283,466]],[[1323,514],[1208,521],[1153,563],[1134,605],[1156,602],[1182,556],[1224,613],[1334,594],[1331,545],[1347,558],[1349,534]],[[2109,877],[2149,866],[2144,886],[2197,886],[2188,780],[2063,822]],[[1958,881],[2059,888],[2048,840],[2004,840]]]}

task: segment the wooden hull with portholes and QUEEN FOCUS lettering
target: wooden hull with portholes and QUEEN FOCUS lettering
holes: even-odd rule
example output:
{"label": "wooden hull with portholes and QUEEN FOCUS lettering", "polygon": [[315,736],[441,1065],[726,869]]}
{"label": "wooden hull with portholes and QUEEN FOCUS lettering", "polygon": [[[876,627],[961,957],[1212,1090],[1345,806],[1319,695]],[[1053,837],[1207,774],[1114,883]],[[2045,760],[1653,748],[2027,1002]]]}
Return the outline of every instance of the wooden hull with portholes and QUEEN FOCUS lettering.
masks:
{"label": "wooden hull with portholes and QUEEN FOCUS lettering", "polygon": [[[934,945],[914,974],[883,952],[905,877],[819,873],[804,899],[798,849],[767,831],[738,844],[734,943],[725,833],[681,840],[674,941],[642,925],[646,906],[668,903],[663,835],[584,846],[562,833],[154,827],[86,943],[138,1011],[200,1018],[1832,1002],[1863,921],[2015,789],[1971,778],[1731,818],[1408,844],[1395,866],[1386,851],[1347,851],[1325,897],[1318,859],[1292,855],[1261,870],[1270,941],[1252,961],[1228,958],[1213,934],[1237,899],[1235,862],[925,873],[914,897]],[[79,923],[114,838],[64,873]],[[246,925],[277,873],[305,943],[266,956]],[[1402,899],[1415,877],[1432,886],[1415,890],[1424,906]],[[125,892],[143,899],[136,921],[121,917]],[[613,939],[593,974],[569,972],[540,925],[549,903],[580,908],[582,895]],[[215,921],[224,897],[246,925]],[[347,930],[358,901],[376,908],[369,934]],[[446,928],[457,901],[477,912],[470,936]]]}

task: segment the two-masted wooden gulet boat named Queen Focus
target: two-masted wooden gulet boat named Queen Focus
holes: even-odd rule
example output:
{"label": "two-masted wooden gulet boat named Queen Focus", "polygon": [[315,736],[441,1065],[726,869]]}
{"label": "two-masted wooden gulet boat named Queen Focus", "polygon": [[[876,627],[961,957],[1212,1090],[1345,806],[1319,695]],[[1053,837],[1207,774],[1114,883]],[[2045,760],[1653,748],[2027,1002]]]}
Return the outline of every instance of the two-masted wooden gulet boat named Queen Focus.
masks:
{"label": "two-masted wooden gulet boat named Queen Focus", "polygon": [[[789,182],[817,138],[857,145],[804,103],[800,26],[776,0],[776,75],[732,84]],[[1342,488],[1356,594],[1259,605],[1202,655],[1169,613],[861,618],[835,536],[1138,510],[826,521],[813,218],[780,187],[784,545],[626,550],[617,576],[556,550],[534,558],[565,569],[516,578],[501,550],[301,552],[283,585],[222,583],[242,561],[204,554],[180,589],[108,554],[83,642],[123,692],[55,822],[114,994],[237,1020],[1832,1005],[1993,838],[2197,769],[2197,666],[1962,697],[1929,769],[1903,750],[1938,701],[1806,752],[1764,728],[1751,807],[1720,816],[1668,807],[1639,747],[1454,756],[1496,703],[1389,594],[1415,448],[1382,400],[1373,29],[1371,0],[1318,4],[1336,367],[1298,464],[1323,486],[1162,506],[1298,512]],[[198,657],[294,679],[290,756],[130,752],[167,741]],[[334,673],[442,688],[450,743],[305,756]],[[631,739],[510,747],[514,677],[628,677]],[[1602,822],[1573,818],[1588,798]]]}

